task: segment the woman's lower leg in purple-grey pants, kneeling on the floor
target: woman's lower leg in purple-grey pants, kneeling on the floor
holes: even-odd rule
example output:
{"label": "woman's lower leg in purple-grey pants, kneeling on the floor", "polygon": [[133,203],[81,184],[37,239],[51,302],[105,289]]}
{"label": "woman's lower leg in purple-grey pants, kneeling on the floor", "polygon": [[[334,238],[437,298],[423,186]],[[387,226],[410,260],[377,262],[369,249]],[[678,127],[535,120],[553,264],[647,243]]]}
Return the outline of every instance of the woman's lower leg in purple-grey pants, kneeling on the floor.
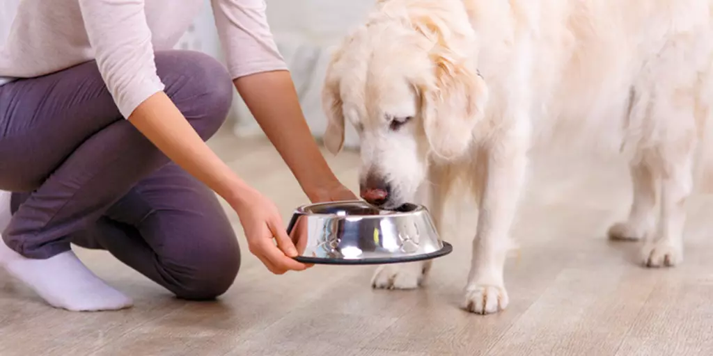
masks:
{"label": "woman's lower leg in purple-grey pants, kneeling on the floor", "polygon": [[179,298],[222,295],[240,268],[235,232],[215,194],[171,163],[71,237],[108,250]]}

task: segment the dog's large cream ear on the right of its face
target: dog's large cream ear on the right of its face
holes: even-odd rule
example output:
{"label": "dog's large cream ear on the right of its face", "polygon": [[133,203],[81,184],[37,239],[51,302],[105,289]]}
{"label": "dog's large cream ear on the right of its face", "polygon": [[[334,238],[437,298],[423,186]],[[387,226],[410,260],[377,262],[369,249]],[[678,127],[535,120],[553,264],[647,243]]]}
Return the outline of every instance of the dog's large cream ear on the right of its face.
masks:
{"label": "dog's large cream ear on the right of its face", "polygon": [[432,152],[454,159],[471,145],[488,100],[488,87],[474,63],[475,33],[467,23],[456,28],[431,14],[414,18],[416,30],[433,45],[434,75],[418,85],[424,131]]}

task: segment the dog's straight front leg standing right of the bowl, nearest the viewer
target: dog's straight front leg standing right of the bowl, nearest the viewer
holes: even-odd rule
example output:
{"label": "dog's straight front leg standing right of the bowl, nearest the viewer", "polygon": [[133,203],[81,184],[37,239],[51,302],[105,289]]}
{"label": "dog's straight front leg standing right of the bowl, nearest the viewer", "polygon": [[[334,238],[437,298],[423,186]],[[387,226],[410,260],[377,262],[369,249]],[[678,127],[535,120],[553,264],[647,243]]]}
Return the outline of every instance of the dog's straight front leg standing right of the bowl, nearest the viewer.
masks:
{"label": "dog's straight front leg standing right of the bowl, nearest the viewer", "polygon": [[528,140],[523,136],[513,133],[486,148],[486,177],[481,183],[478,231],[463,305],[473,313],[496,313],[508,306],[503,268],[525,181]]}

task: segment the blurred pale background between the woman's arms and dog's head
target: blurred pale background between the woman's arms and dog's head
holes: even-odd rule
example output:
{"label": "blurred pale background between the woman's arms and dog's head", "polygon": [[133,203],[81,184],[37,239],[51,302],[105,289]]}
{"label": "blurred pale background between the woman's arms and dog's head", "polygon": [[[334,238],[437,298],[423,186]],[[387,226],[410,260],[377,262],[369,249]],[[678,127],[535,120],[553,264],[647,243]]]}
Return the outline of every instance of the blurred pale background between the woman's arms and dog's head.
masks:
{"label": "blurred pale background between the woman's arms and dog's head", "polygon": [[[280,53],[287,62],[302,110],[315,137],[321,137],[327,125],[322,112],[320,92],[327,63],[334,45],[349,30],[361,23],[375,0],[267,0],[267,19]],[[205,0],[202,12],[177,45],[201,51],[223,61],[220,42],[210,9]],[[227,124],[240,137],[262,135],[240,95],[235,93]],[[356,148],[352,127],[347,129],[345,147]]]}

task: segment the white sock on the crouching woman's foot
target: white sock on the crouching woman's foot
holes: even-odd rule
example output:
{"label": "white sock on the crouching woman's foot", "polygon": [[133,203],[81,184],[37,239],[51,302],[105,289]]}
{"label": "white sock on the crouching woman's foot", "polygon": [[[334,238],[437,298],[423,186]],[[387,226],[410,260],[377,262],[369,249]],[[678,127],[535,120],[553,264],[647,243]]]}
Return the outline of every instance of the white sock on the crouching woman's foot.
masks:
{"label": "white sock on the crouching woman's foot", "polygon": [[[9,199],[0,192],[0,223],[8,219]],[[5,228],[6,224],[0,226]],[[1,230],[0,230],[1,231]],[[0,266],[55,308],[73,311],[118,310],[133,305],[131,298],[111,288],[89,271],[73,251],[47,259],[26,258],[9,248],[0,236]]]}

